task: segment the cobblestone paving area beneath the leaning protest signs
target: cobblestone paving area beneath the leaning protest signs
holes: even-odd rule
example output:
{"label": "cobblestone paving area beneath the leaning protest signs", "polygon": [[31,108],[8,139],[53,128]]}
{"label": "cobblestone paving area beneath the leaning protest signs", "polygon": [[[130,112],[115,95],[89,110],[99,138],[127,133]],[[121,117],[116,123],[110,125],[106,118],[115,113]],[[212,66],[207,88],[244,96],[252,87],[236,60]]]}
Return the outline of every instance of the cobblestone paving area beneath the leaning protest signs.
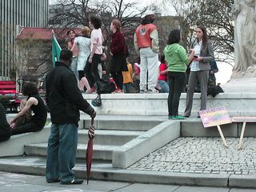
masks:
{"label": "cobblestone paving area beneath the leaning protest signs", "polygon": [[244,138],[243,149],[237,150],[239,138],[178,138],[142,158],[128,170],[178,173],[256,174],[256,138]]}

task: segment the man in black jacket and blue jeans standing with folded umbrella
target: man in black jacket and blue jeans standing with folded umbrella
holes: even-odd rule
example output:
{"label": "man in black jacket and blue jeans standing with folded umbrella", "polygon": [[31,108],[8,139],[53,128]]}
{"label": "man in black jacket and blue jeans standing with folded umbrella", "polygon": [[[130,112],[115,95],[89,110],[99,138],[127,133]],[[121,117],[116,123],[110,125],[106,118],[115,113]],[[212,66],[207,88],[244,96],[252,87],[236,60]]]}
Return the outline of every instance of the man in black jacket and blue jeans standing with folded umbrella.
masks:
{"label": "man in black jacket and blue jeans standing with folded umbrella", "polygon": [[60,62],[46,76],[46,102],[52,122],[48,141],[46,181],[81,184],[74,176],[78,146],[79,110],[94,118],[96,112],[78,90],[74,72],[70,70],[72,52],[62,50]]}

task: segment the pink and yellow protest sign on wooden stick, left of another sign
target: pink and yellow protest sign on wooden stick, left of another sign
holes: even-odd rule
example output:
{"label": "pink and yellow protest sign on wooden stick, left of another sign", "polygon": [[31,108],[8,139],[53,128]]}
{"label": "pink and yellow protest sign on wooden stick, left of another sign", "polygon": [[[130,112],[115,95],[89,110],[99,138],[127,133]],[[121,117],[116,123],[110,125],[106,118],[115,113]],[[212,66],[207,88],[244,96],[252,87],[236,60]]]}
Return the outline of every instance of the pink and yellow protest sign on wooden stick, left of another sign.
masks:
{"label": "pink and yellow protest sign on wooden stick, left of another sign", "polygon": [[199,111],[200,118],[202,119],[203,126],[210,127],[210,126],[217,126],[218,133],[222,138],[222,142],[224,146],[228,147],[226,144],[226,139],[222,134],[222,129],[220,125],[231,123],[231,119],[227,110],[224,106],[211,108],[208,110],[200,110]]}

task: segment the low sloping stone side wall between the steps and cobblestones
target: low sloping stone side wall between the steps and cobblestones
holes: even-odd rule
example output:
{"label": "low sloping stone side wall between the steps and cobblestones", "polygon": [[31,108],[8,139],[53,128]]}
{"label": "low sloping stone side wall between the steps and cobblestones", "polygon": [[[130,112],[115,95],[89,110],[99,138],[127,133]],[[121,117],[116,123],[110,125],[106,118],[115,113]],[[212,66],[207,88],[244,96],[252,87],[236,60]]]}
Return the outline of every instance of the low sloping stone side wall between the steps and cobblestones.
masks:
{"label": "low sloping stone side wall between the steps and cobblestones", "polygon": [[113,151],[113,167],[125,169],[180,136],[180,122],[162,122]]}

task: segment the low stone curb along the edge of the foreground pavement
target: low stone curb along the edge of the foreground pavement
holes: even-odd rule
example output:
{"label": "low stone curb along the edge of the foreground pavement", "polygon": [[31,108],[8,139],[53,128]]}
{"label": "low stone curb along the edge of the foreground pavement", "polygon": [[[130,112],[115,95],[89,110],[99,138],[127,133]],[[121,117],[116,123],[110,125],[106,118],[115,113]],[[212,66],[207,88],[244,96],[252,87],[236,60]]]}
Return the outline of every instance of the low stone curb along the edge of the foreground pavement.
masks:
{"label": "low stone curb along the edge of the foreground pavement", "polygon": [[[0,170],[17,174],[45,175],[46,166],[24,166],[1,163]],[[86,179],[86,170],[75,167],[74,172],[78,178]],[[256,176],[255,176],[256,177]],[[118,182],[142,182],[154,184],[182,185],[182,186],[222,186],[222,187],[251,187],[256,188],[254,178],[247,181],[247,177],[232,178],[229,182],[230,174],[186,174],[155,171],[136,170],[114,170],[109,168],[91,170],[90,179],[118,181]],[[235,180],[236,179],[236,180]],[[244,183],[241,185],[241,183]],[[250,183],[247,186],[246,183]]]}

